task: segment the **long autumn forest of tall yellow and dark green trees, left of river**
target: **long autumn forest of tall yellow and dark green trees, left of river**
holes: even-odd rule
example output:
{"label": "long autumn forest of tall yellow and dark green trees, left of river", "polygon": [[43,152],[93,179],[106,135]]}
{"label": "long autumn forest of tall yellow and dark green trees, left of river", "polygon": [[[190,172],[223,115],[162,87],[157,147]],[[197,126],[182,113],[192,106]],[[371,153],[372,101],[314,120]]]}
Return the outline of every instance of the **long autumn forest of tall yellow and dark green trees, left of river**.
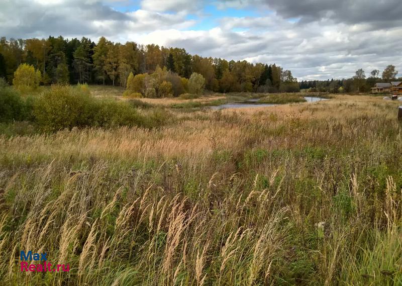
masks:
{"label": "long autumn forest of tall yellow and dark green trees, left of river", "polygon": [[[180,78],[193,73],[205,79],[205,88],[217,92],[296,92],[297,79],[275,64],[249,63],[191,55],[183,48],[114,43],[105,37],[0,39],[0,77],[9,83],[21,64],[40,72],[40,83],[97,83],[127,86],[130,73],[152,74],[158,68]],[[159,71],[160,72],[160,71]],[[169,89],[169,88],[168,88]],[[176,93],[176,92],[173,92]]]}

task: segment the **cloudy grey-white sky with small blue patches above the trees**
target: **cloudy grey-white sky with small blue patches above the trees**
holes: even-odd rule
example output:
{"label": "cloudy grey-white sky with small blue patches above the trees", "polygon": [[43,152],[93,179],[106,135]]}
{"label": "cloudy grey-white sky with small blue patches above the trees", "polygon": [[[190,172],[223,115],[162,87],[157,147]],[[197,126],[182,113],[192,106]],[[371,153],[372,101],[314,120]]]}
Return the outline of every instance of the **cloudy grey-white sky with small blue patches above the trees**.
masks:
{"label": "cloudy grey-white sky with small blue patches above the trees", "polygon": [[393,64],[401,0],[0,0],[0,37],[105,36],[227,60],[276,63],[298,80]]}

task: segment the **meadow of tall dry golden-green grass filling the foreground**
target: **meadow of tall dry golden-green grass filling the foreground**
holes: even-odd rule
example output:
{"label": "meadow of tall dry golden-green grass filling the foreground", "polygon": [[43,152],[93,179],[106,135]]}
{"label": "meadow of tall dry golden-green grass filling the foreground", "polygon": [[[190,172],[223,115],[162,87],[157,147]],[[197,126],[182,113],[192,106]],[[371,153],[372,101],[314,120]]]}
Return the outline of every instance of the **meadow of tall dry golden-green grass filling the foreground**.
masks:
{"label": "meadow of tall dry golden-green grass filling the foreground", "polygon": [[[235,97],[254,94],[139,99],[129,126],[3,125],[0,284],[402,285],[398,104],[203,108]],[[20,250],[70,271],[21,272]]]}

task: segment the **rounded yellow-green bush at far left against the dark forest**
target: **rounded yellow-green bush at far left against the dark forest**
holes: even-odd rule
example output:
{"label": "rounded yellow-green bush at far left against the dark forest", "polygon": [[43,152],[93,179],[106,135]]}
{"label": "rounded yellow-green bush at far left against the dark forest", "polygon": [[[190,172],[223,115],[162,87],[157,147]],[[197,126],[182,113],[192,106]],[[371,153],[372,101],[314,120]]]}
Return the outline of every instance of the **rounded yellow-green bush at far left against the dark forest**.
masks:
{"label": "rounded yellow-green bush at far left against the dark forest", "polygon": [[35,71],[35,68],[29,64],[21,64],[14,72],[13,84],[22,91],[32,91],[39,86],[41,72]]}

